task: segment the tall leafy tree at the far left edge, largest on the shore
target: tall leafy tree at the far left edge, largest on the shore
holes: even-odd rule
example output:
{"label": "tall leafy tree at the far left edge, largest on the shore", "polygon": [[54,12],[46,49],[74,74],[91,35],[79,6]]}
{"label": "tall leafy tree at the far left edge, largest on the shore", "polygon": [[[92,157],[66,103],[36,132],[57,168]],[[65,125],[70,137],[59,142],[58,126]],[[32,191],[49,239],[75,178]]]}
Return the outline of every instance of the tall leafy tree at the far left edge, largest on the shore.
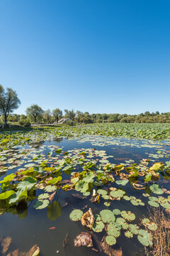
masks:
{"label": "tall leafy tree at the far left edge, largest on the shore", "polygon": [[0,85],[0,113],[4,114],[4,124],[7,124],[8,114],[11,114],[13,110],[16,110],[21,101],[18,99],[16,91],[11,88],[6,88]]}

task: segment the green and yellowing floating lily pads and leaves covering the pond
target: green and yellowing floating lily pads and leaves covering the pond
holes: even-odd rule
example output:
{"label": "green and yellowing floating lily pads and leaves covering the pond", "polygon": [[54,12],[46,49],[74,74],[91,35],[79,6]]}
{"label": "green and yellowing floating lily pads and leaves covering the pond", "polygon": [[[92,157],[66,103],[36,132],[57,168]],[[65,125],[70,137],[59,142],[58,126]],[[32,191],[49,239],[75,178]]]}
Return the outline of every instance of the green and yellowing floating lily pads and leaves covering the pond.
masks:
{"label": "green and yellowing floating lily pads and leaves covering the pond", "polygon": [[[170,211],[168,126],[95,124],[1,133],[0,218],[46,216],[54,223],[49,232],[62,223],[67,233],[79,230],[74,240],[69,234],[70,244],[107,255],[121,239],[153,247],[158,225],[147,208]],[[167,220],[164,225],[169,227]]]}

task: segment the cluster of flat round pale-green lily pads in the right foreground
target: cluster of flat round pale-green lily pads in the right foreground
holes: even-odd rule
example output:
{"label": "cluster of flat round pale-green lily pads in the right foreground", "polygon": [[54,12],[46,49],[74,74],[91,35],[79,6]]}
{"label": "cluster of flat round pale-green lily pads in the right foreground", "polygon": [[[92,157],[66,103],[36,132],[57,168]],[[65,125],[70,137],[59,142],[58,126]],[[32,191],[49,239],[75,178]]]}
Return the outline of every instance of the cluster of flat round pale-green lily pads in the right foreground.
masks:
{"label": "cluster of flat round pale-green lily pads in the right foreground", "polygon": [[[88,212],[87,212],[88,213]],[[81,220],[84,218],[86,213],[82,210],[72,210],[69,218],[73,221]],[[145,229],[140,228],[137,224],[131,222],[135,220],[135,214],[131,211],[120,211],[119,209],[113,210],[101,210],[99,214],[94,215],[91,212],[91,228],[87,225],[87,228],[93,230],[96,233],[101,233],[104,229],[106,230],[106,242],[108,245],[115,245],[116,238],[121,235],[121,230],[124,230],[124,234],[127,238],[133,238],[137,235],[137,239],[142,245],[152,245],[152,234],[151,231],[157,230],[157,225],[152,223],[148,218],[142,219],[141,224],[145,226]],[[120,215],[120,217],[118,217]]]}

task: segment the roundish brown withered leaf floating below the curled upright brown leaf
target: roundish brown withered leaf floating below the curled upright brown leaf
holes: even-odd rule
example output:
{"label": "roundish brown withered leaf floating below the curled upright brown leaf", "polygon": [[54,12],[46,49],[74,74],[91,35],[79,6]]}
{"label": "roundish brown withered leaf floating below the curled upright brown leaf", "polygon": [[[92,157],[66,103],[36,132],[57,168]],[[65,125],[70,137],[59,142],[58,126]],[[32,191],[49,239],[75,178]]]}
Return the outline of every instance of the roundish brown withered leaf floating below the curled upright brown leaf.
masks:
{"label": "roundish brown withered leaf floating below the curled upright brown leaf", "polygon": [[93,247],[93,242],[91,239],[91,234],[87,232],[81,232],[77,237],[74,239],[74,246],[86,246],[86,247]]}

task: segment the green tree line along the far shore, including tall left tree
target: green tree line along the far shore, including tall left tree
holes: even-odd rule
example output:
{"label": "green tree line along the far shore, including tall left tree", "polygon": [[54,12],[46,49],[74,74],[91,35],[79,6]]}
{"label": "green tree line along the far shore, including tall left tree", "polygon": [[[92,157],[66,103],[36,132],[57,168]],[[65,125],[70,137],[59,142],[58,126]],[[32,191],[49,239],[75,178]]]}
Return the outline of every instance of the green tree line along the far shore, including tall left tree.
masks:
{"label": "green tree line along the far shore, including tall left tree", "polygon": [[77,110],[64,110],[64,113],[59,108],[55,110],[42,110],[42,107],[37,104],[31,105],[27,108],[26,114],[13,114],[21,101],[18,99],[16,91],[11,88],[6,88],[0,85],[0,114],[1,122],[7,124],[18,123],[23,126],[29,126],[30,123],[40,124],[52,124],[58,123],[60,119],[69,118],[72,122],[90,124],[90,123],[101,123],[101,122],[120,122],[120,123],[169,123],[170,112],[159,113],[149,111],[141,114],[89,114],[89,112],[81,112]]}

